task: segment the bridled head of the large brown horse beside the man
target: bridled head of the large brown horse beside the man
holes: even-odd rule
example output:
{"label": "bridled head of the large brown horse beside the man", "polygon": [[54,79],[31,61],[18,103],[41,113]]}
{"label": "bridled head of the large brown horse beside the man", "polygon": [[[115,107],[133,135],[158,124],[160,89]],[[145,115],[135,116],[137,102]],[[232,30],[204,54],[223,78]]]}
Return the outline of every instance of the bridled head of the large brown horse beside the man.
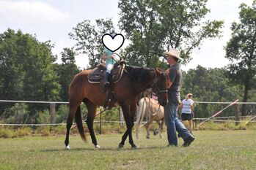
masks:
{"label": "bridled head of the large brown horse beside the man", "polygon": [[156,70],[156,77],[152,85],[152,90],[158,96],[158,102],[161,106],[165,106],[168,103],[168,82],[167,73]]}

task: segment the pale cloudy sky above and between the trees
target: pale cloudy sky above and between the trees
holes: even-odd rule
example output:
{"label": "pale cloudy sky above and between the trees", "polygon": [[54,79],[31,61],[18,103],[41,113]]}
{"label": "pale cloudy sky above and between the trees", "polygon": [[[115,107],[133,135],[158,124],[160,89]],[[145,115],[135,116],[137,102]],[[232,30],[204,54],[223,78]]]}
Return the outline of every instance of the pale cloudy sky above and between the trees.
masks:
{"label": "pale cloudy sky above and between the trees", "polygon": [[[238,22],[238,8],[241,3],[252,6],[252,0],[208,0],[207,7],[211,10],[205,20],[224,20],[220,39],[205,39],[200,50],[194,50],[192,60],[181,66],[185,71],[195,69],[198,65],[205,68],[220,68],[230,61],[224,58],[224,46],[230,39],[231,23]],[[62,49],[73,47],[75,42],[68,33],[83,20],[112,18],[117,28],[119,20],[118,0],[0,0],[0,33],[12,28],[21,29],[23,33],[35,35],[40,42],[51,40],[55,47],[54,55],[60,56]],[[127,41],[126,41],[127,42]],[[57,62],[60,62],[60,58]],[[86,55],[76,56],[76,64],[86,68]]]}

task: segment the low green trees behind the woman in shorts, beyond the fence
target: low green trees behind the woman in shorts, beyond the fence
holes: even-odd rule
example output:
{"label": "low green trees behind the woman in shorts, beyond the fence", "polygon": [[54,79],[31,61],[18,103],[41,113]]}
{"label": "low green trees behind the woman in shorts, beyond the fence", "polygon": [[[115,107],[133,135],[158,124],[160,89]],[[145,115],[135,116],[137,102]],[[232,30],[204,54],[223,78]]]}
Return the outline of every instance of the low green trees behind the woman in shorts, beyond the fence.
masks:
{"label": "low green trees behind the woman in shorts, beyond the fence", "polygon": [[[225,72],[226,69],[205,69],[202,66],[184,72],[181,98],[185,98],[187,93],[194,94],[194,101],[234,101],[240,98],[240,86],[231,85]],[[197,104],[195,114],[197,117],[210,117],[223,107],[223,104]],[[223,115],[234,116],[233,109],[230,107]]]}

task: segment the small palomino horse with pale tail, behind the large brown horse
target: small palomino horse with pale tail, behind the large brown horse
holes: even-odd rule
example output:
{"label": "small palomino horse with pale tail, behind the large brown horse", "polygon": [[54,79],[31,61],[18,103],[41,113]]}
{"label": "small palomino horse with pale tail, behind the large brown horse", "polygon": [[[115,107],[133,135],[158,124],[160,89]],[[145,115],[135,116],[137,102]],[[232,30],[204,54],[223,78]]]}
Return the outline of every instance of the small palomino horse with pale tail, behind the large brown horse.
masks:
{"label": "small palomino horse with pale tail, behind the large brown horse", "polygon": [[[146,114],[146,115],[145,115]],[[150,138],[150,124],[155,120],[158,125],[158,131],[162,138],[162,131],[164,126],[164,107],[161,107],[153,98],[141,98],[139,100],[139,108],[137,109],[136,118],[136,138],[139,139],[139,128],[142,123],[143,117],[147,116],[147,123],[145,128],[147,130],[147,139]]]}

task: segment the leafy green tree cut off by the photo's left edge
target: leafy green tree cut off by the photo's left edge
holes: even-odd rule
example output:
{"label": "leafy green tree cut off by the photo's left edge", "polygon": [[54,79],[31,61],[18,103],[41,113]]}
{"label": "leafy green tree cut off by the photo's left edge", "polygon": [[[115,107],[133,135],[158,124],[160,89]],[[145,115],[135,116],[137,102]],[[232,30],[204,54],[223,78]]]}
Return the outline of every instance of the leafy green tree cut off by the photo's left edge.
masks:
{"label": "leafy green tree cut off by the photo's left edge", "polygon": [[23,97],[24,71],[20,55],[23,35],[21,31],[8,29],[0,34],[0,98],[21,99]]}

